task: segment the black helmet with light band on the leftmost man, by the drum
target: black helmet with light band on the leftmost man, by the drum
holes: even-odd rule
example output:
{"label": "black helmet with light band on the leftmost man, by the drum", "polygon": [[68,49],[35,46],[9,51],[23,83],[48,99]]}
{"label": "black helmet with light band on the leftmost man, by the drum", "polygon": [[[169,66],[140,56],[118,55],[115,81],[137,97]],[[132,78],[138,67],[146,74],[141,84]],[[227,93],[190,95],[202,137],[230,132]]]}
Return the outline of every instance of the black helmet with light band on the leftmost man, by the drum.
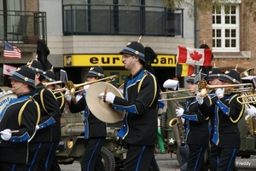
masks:
{"label": "black helmet with light band on the leftmost man, by the drum", "polygon": [[35,88],[35,72],[27,66],[20,66],[9,79],[17,80],[21,83],[27,83],[32,88]]}

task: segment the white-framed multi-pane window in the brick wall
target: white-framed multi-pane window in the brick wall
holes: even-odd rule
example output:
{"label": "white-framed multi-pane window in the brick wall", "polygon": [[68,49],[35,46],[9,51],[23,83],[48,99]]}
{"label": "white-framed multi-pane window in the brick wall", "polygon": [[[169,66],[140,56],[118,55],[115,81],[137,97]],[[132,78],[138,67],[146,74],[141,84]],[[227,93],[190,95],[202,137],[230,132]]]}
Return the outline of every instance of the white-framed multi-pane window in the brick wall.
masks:
{"label": "white-framed multi-pane window in the brick wall", "polygon": [[239,51],[239,6],[225,5],[212,10],[212,50]]}

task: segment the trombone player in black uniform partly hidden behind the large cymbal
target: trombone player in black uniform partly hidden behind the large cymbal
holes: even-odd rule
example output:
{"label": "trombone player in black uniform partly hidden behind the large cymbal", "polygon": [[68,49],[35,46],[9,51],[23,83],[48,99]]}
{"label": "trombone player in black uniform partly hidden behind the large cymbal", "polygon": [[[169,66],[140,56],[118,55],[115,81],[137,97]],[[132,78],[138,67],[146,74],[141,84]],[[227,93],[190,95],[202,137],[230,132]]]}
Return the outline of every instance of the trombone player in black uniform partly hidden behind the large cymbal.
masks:
{"label": "trombone player in black uniform partly hidden behind the large cymbal", "polygon": [[[90,68],[90,71],[86,74],[87,82],[96,81],[97,79],[104,78],[104,71],[101,66],[94,66]],[[99,120],[90,112],[90,109],[86,105],[86,91],[89,85],[84,86],[83,97],[75,103],[71,100],[69,91],[66,91],[65,97],[69,103],[69,110],[73,113],[84,111],[84,145],[85,151],[81,160],[82,171],[105,170],[102,164],[102,145],[107,136],[106,123]],[[102,113],[102,115],[104,115]]]}

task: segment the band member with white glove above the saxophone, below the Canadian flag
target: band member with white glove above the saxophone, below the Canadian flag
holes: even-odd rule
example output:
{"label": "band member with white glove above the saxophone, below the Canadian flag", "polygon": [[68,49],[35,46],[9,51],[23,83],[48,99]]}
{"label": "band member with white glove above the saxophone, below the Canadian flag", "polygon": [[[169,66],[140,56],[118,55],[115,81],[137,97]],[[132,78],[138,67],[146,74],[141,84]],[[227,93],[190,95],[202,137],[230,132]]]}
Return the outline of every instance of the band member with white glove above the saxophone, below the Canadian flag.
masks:
{"label": "band member with white glove above the saxophone, below the Canadian flag", "polygon": [[[195,75],[187,80],[189,94],[192,97],[197,93],[197,85],[194,81]],[[189,145],[187,171],[207,171],[204,156],[209,144],[208,117],[202,115],[194,97],[187,100],[185,110],[179,108],[176,110],[176,114],[177,117],[185,119],[185,143]]]}

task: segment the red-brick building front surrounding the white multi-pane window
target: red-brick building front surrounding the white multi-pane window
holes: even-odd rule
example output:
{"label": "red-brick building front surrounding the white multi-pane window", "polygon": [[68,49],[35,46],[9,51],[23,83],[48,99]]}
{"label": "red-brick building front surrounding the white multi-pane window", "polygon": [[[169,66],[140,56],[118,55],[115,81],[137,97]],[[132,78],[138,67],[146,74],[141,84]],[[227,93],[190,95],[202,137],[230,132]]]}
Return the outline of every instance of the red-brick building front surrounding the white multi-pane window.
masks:
{"label": "red-brick building front surrounding the white multi-pane window", "polygon": [[256,23],[247,9],[241,0],[199,15],[199,42],[205,41],[212,49],[212,66],[223,71],[236,66],[239,71],[254,68]]}

